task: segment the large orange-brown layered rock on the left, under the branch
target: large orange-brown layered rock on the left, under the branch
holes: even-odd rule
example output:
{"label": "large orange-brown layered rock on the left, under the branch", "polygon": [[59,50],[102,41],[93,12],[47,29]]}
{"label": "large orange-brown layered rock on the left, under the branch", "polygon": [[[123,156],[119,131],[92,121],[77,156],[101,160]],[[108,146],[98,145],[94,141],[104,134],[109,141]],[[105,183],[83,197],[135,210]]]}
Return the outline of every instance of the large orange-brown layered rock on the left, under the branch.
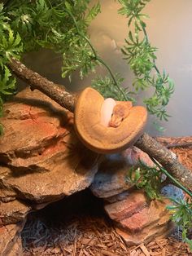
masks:
{"label": "large orange-brown layered rock on the left, under the branch", "polygon": [[72,113],[46,95],[24,90],[5,104],[1,123],[1,227],[93,182],[98,156],[76,138]]}

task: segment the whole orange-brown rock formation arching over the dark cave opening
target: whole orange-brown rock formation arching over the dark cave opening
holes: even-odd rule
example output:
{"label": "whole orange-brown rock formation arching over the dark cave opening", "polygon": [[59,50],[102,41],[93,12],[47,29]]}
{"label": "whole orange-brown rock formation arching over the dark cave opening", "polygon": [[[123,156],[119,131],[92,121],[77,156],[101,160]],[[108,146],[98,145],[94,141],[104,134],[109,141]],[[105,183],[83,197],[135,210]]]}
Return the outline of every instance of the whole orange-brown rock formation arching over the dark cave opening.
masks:
{"label": "whole orange-brown rock formation arching over the dark cave opening", "polygon": [[0,120],[5,131],[0,137],[1,255],[22,255],[20,231],[29,212],[89,186],[107,202],[107,214],[129,245],[170,229],[168,201],[150,202],[125,183],[129,150],[106,157],[98,171],[98,155],[76,138],[72,120],[72,113],[37,90],[26,89],[5,104]]}

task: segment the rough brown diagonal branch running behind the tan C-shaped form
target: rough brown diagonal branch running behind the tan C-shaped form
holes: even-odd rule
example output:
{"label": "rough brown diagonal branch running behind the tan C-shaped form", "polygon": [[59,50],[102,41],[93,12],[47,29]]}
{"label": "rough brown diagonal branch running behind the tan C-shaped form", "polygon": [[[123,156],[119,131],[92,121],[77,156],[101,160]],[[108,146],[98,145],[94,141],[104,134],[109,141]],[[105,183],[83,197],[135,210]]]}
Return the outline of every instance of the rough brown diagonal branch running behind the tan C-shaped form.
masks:
{"label": "rough brown diagonal branch running behind the tan C-shaped form", "polygon": [[[67,108],[72,113],[74,112],[76,97],[66,91],[64,86],[50,82],[46,77],[41,77],[40,74],[27,68],[19,60],[12,59],[9,63],[9,68],[17,77],[27,82],[32,90],[40,90],[63,108]],[[146,133],[140,139],[137,139],[135,145],[150,157],[154,157],[172,176],[178,179],[186,188],[192,190],[192,171],[182,166],[176,155],[168,148],[162,146],[161,143]]]}

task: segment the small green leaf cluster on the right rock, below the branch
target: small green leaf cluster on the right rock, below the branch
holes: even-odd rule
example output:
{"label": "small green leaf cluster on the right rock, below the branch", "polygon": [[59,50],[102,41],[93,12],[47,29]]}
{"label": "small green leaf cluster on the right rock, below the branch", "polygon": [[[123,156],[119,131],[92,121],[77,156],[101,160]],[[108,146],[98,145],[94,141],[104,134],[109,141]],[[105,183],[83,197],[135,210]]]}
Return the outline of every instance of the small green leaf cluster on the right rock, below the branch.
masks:
{"label": "small green leaf cluster on the right rock, below the branch", "polygon": [[158,168],[146,166],[140,161],[137,169],[134,167],[129,169],[126,179],[135,184],[137,188],[143,188],[149,198],[160,199],[161,174]]}

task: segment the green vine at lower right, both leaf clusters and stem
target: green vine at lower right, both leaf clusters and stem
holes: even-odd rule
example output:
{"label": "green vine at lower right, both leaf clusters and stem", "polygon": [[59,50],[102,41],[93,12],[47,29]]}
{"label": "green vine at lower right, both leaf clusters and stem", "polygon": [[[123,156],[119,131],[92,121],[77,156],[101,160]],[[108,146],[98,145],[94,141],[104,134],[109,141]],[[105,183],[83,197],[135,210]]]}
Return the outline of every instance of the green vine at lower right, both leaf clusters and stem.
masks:
{"label": "green vine at lower right, both leaf clusters and stem", "polygon": [[139,161],[137,169],[135,167],[128,170],[126,179],[136,185],[137,188],[143,188],[151,199],[161,199],[160,188],[162,187],[162,174],[167,175],[167,179],[171,179],[172,183],[181,188],[190,196],[186,200],[170,198],[173,205],[168,205],[168,210],[172,214],[172,221],[182,229],[182,239],[190,245],[192,250],[192,241],[187,238],[187,232],[192,228],[192,193],[188,191],[181,183],[174,179],[167,170],[155,161],[155,166],[146,166],[145,163]]}

